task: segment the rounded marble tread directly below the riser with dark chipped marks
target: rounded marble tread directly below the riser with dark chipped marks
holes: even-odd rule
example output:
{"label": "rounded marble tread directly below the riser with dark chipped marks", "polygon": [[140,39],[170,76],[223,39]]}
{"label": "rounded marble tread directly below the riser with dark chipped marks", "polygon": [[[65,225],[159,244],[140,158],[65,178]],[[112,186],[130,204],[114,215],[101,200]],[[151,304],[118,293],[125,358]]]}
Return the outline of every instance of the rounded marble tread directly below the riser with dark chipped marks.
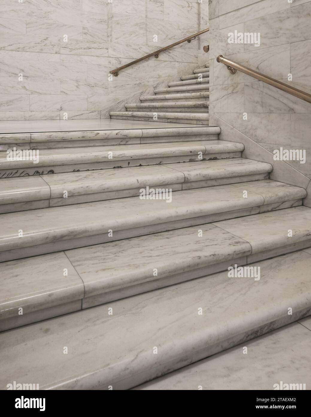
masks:
{"label": "rounded marble tread directly below the riser with dark chipped marks", "polygon": [[[216,142],[216,141],[215,141]],[[225,142],[225,141],[223,141]],[[216,144],[215,144],[216,145]],[[227,146],[230,142],[221,143]],[[238,150],[239,148],[231,148]],[[241,149],[241,148],[240,148]],[[199,166],[196,166],[199,164]],[[161,165],[112,168],[98,171],[80,171],[49,175],[6,178],[0,181],[0,204],[22,201],[61,198],[64,190],[68,196],[102,193],[142,186],[160,186],[204,179],[225,178],[270,172],[269,163],[245,158],[227,158],[212,161],[181,162]]]}

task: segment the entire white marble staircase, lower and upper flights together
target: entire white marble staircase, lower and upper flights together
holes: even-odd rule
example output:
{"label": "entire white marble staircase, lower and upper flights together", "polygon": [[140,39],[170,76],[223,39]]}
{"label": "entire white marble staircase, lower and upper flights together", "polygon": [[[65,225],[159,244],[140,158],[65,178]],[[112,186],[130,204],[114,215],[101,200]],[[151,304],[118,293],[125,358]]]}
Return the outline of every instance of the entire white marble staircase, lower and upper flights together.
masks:
{"label": "entire white marble staircase, lower and upper flights together", "polygon": [[206,126],[208,74],[110,128],[0,135],[0,389],[145,389],[311,314],[306,190]]}

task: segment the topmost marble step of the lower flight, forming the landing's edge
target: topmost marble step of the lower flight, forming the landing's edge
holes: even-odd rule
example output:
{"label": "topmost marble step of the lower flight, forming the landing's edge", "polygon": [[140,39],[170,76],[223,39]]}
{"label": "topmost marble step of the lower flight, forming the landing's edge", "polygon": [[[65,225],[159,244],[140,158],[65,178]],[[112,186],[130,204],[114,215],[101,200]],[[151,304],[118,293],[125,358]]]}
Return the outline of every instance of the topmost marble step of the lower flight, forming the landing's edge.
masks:
{"label": "topmost marble step of the lower flight, forming the landing's edge", "polygon": [[[156,97],[156,96],[152,96]],[[162,96],[161,96],[162,98]],[[217,139],[218,127],[178,127],[115,129],[102,131],[64,131],[10,133],[0,135],[0,151],[8,149],[79,148],[85,146],[130,145],[134,143],[174,142]]]}

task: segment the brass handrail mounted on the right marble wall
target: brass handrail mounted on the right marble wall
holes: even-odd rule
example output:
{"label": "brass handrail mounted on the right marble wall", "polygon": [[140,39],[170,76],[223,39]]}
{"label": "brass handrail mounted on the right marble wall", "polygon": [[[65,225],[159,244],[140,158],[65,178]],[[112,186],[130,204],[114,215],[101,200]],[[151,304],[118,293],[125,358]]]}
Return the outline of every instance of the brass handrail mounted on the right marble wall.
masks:
{"label": "brass handrail mounted on the right marble wall", "polygon": [[285,91],[286,93],[294,95],[295,97],[301,98],[301,100],[311,103],[311,94],[305,93],[302,90],[298,90],[298,88],[291,87],[288,84],[282,83],[281,81],[268,77],[268,75],[264,75],[257,71],[251,70],[251,68],[244,67],[244,65],[231,61],[228,58],[224,58],[222,55],[219,55],[216,61],[226,65],[231,74],[235,74],[237,70],[241,71],[241,73],[250,75],[251,77],[254,77],[257,80],[263,81],[266,84],[279,88],[279,90]]}

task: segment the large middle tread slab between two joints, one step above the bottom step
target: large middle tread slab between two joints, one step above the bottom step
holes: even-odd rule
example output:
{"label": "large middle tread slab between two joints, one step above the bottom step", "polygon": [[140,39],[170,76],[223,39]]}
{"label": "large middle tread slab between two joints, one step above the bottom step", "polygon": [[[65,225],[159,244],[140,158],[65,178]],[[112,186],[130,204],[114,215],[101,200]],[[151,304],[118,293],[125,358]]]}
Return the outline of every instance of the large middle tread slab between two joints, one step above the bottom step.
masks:
{"label": "large middle tread slab between two joints, one step above the bottom step", "polygon": [[[202,230],[200,237],[198,230]],[[118,253],[122,254],[122,262],[116,264]],[[251,246],[244,240],[210,224],[66,251],[85,284],[86,297],[250,253]],[[153,274],[154,268],[157,276]]]}

